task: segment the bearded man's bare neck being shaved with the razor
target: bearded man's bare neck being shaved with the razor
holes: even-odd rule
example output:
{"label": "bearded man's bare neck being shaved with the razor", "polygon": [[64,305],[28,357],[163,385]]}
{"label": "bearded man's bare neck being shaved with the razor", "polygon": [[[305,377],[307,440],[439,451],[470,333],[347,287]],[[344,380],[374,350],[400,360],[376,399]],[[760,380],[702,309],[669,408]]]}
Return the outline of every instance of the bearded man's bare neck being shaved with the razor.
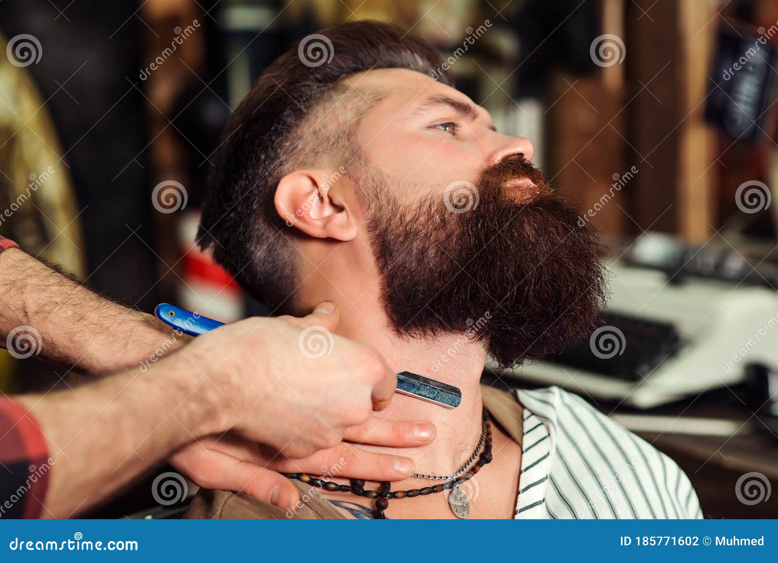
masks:
{"label": "bearded man's bare neck being shaved with the razor", "polygon": [[[446,334],[436,339],[398,336],[381,302],[380,273],[367,241],[342,245],[308,239],[301,244],[308,257],[300,262],[302,302],[313,308],[324,299],[335,301],[340,312],[338,334],[375,348],[396,373],[415,372],[457,386],[462,392],[461,404],[454,409],[394,393],[391,403],[376,415],[393,420],[430,421],[436,428],[435,439],[419,448],[361,447],[408,456],[415,461],[415,473],[449,475],[457,471],[471,456],[482,431],[479,382],[486,359],[484,344],[471,342],[464,334]],[[429,484],[415,481],[407,485]]]}

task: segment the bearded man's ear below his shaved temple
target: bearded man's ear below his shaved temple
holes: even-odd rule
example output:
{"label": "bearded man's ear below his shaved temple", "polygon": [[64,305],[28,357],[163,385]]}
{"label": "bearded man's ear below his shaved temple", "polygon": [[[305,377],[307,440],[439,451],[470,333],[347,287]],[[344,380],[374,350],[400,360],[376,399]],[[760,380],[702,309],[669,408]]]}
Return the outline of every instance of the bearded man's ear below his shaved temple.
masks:
{"label": "bearded man's ear below his shaved temple", "polygon": [[345,198],[344,180],[333,170],[289,173],[275,189],[275,210],[287,225],[309,236],[352,240],[357,222]]}

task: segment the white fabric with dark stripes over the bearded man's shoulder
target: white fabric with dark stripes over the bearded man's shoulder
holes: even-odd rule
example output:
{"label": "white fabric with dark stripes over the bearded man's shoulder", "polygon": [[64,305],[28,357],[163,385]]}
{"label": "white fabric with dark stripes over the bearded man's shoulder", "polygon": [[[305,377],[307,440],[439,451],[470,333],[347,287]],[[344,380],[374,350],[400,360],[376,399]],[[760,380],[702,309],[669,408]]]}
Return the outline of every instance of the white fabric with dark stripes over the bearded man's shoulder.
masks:
{"label": "white fabric with dark stripes over the bearded man's shoulder", "polygon": [[702,518],[664,453],[559,387],[516,390],[524,406],[517,519]]}

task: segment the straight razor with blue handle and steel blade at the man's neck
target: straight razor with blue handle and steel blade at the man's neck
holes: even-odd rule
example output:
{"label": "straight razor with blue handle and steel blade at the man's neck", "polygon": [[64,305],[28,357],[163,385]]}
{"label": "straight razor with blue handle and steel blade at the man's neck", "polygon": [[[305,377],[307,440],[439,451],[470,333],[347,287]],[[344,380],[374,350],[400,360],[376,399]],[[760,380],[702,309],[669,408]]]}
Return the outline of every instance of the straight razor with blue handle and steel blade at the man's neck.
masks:
{"label": "straight razor with blue handle and steel blade at the man's neck", "polygon": [[[159,320],[190,336],[200,336],[224,324],[170,303],[159,303],[154,313]],[[398,393],[427,400],[446,408],[456,408],[462,400],[462,393],[457,387],[414,372],[397,374],[397,390]]]}

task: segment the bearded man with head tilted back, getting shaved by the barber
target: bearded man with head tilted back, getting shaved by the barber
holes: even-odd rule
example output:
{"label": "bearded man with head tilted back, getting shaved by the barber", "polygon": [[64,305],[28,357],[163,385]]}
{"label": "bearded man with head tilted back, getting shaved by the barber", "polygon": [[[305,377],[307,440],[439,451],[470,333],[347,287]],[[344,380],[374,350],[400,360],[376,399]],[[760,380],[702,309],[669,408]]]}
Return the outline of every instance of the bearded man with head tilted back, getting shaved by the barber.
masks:
{"label": "bearded man with head tilted back, getting shaved by the barber", "polygon": [[[322,476],[282,469],[300,488],[296,510],[201,491],[188,516],[701,516],[672,460],[580,397],[480,383],[487,354],[515,365],[559,351],[605,305],[598,237],[533,152],[454,89],[433,46],[384,23],[322,30],[261,75],[216,152],[202,245],[272,314],[331,300],[338,334],[462,399],[447,410],[395,393],[378,414],[436,428],[405,450],[415,472],[404,480],[338,477],[338,451],[403,455],[341,442]],[[326,353],[328,334],[315,336]],[[278,467],[265,449],[222,447]]]}

